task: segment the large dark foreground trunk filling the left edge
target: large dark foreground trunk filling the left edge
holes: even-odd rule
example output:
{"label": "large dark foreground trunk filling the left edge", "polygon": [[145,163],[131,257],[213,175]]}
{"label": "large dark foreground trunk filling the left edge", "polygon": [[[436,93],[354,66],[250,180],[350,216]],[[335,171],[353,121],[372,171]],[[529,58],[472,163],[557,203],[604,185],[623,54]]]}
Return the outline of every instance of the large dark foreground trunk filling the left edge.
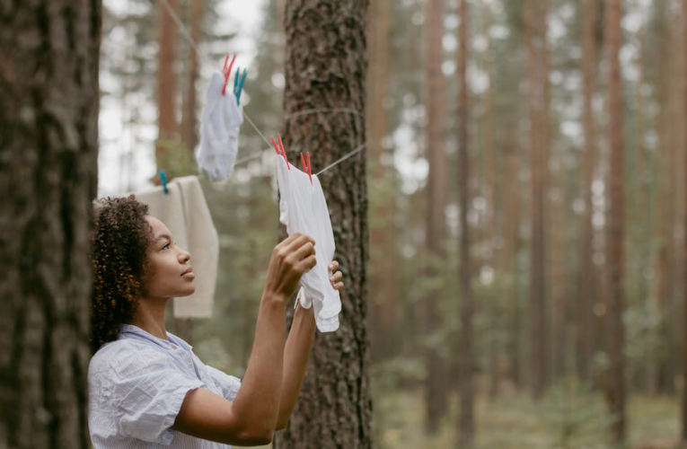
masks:
{"label": "large dark foreground trunk filling the left edge", "polygon": [[101,3],[0,20],[0,447],[86,449]]}

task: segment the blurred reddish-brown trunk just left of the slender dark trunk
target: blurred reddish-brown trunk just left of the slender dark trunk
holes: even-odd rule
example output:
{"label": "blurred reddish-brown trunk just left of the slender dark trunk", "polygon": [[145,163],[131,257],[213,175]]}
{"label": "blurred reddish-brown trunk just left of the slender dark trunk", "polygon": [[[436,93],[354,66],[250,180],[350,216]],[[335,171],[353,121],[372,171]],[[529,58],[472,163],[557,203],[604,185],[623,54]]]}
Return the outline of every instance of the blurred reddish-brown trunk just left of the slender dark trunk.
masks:
{"label": "blurred reddish-brown trunk just left of the slender dark trunk", "polygon": [[[427,3],[425,22],[427,48],[427,210],[426,246],[427,277],[441,276],[440,260],[445,258],[445,79],[441,71],[443,63],[442,39],[444,36],[443,0],[430,0]],[[442,320],[438,312],[438,298],[441,289],[433,288],[425,298],[425,332],[427,336],[441,328]],[[429,344],[425,350],[427,377],[425,383],[425,404],[427,408],[425,428],[427,434],[436,434],[439,420],[445,416],[448,402],[445,394],[447,383],[446,362],[436,344]]]}

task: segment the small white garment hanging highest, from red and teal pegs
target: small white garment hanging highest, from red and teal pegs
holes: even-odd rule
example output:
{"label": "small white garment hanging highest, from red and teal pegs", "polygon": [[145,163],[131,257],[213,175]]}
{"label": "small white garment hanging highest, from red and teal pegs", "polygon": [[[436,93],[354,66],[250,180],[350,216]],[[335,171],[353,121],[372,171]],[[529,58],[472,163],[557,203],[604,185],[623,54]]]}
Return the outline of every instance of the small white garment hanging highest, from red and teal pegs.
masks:
{"label": "small white garment hanging highest, from red and teal pegs", "polygon": [[198,171],[210,180],[225,180],[232,175],[239,151],[239,128],[243,122],[232,89],[226,89],[225,75],[215,72],[207,86],[205,106],[200,122],[200,145],[196,148]]}

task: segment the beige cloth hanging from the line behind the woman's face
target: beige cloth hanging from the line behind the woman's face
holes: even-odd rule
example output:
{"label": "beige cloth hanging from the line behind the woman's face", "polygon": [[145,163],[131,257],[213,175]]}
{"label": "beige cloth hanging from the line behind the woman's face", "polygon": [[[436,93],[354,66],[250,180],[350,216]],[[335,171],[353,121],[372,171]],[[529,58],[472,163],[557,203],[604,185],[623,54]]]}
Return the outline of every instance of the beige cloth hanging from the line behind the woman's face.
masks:
{"label": "beige cloth hanging from the line behind the woman's face", "polygon": [[149,214],[160,219],[172,233],[174,242],[189,251],[196,278],[193,295],[174,298],[176,318],[210,318],[217,279],[219,240],[197,176],[174,178],[162,187],[135,193],[149,207]]}

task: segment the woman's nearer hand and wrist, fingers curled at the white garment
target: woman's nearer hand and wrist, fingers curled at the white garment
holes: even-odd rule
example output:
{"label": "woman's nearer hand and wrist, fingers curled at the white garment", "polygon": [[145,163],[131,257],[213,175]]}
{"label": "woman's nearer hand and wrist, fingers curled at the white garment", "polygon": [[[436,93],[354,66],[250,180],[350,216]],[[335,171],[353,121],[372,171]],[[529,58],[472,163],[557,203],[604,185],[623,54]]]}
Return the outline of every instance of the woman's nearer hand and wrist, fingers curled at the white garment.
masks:
{"label": "woman's nearer hand and wrist, fingers curled at the white garment", "polygon": [[304,233],[289,235],[272,251],[265,283],[265,295],[274,297],[286,305],[286,301],[294,294],[301,277],[316,264],[315,241]]}

